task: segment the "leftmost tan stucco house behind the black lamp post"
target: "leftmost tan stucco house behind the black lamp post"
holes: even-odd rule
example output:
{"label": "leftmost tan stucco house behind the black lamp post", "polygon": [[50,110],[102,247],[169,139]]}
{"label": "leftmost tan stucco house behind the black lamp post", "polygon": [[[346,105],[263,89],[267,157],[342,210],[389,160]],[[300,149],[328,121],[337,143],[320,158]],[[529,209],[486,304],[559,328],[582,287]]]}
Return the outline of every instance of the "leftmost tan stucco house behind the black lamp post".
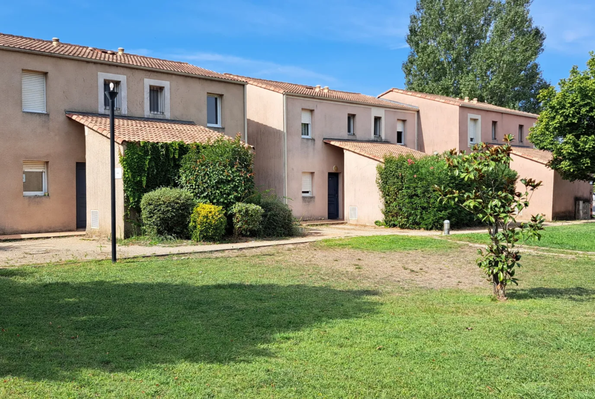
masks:
{"label": "leftmost tan stucco house behind the black lamp post", "polygon": [[[246,138],[246,84],[238,78],[124,49],[0,34],[0,235],[95,233],[87,221],[100,206],[93,201],[109,204],[95,174],[109,167],[109,144],[105,149],[105,136],[67,114],[106,119],[109,83],[120,93],[118,120],[185,121]],[[123,212],[123,197],[118,201]]]}

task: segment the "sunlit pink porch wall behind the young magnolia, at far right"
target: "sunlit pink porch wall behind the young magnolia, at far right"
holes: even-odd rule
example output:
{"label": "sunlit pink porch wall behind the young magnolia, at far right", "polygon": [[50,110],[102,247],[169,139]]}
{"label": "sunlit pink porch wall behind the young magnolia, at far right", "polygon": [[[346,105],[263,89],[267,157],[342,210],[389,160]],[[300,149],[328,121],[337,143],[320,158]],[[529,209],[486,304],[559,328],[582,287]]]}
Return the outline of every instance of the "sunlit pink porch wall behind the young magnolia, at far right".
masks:
{"label": "sunlit pink porch wall behind the young magnolia, at far right", "polygon": [[552,220],[553,211],[553,195],[554,195],[554,173],[551,169],[546,168],[545,165],[539,162],[532,161],[527,158],[512,154],[511,168],[518,172],[519,182],[517,183],[517,191],[524,193],[525,186],[520,180],[522,178],[533,178],[536,181],[543,181],[541,187],[533,191],[531,199],[529,200],[529,207],[522,211],[522,214],[517,217],[519,220],[529,220],[531,215],[543,213],[546,220]]}

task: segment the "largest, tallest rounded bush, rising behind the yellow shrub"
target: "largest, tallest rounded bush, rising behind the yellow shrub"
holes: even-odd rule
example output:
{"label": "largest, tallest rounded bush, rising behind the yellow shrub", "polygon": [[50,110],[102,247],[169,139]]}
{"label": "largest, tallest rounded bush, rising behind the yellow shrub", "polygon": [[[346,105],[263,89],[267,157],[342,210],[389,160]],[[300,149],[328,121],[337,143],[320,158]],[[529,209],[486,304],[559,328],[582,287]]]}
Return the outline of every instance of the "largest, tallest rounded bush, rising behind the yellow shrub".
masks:
{"label": "largest, tallest rounded bush, rising behind the yellow shrub", "polygon": [[254,191],[253,153],[236,139],[220,137],[212,143],[192,144],[181,161],[178,183],[197,200],[227,211]]}

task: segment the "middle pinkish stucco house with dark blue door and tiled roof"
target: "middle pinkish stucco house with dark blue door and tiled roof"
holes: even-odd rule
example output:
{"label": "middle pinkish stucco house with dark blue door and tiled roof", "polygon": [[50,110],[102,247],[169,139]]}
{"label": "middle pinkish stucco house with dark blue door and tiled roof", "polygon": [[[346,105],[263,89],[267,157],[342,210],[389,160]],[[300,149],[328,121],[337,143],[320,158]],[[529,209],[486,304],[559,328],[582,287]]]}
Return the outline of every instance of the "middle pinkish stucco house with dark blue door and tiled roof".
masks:
{"label": "middle pinkish stucco house with dark blue door and tiled roof", "polygon": [[286,197],[302,220],[382,219],[379,197],[369,197],[377,195],[377,159],[341,143],[415,152],[416,106],[328,87],[237,78],[248,81],[248,142],[255,147],[261,190]]}

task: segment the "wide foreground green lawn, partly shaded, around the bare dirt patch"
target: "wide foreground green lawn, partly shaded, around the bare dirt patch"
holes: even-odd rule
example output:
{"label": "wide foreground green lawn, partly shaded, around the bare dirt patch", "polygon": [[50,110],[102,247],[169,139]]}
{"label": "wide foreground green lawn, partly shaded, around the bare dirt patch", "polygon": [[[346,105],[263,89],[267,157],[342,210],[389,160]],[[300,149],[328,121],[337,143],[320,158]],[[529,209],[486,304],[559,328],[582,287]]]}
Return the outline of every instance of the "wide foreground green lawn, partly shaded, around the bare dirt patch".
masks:
{"label": "wide foreground green lawn, partly shaded, around the bare dirt patch", "polygon": [[595,397],[593,258],[527,255],[499,303],[274,251],[0,269],[0,398]]}

